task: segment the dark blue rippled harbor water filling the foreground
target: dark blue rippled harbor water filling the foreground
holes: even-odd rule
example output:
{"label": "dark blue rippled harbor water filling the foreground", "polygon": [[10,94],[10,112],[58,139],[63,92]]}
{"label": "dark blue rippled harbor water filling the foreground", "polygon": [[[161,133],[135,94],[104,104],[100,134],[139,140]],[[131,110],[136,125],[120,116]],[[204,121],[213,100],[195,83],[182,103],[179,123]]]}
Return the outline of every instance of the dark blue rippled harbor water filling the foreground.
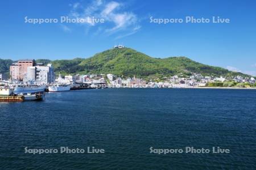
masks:
{"label": "dark blue rippled harbor water filling the foreground", "polygon": [[[256,90],[109,88],[45,98],[0,103],[0,169],[256,169]],[[230,152],[150,150],[185,147]]]}

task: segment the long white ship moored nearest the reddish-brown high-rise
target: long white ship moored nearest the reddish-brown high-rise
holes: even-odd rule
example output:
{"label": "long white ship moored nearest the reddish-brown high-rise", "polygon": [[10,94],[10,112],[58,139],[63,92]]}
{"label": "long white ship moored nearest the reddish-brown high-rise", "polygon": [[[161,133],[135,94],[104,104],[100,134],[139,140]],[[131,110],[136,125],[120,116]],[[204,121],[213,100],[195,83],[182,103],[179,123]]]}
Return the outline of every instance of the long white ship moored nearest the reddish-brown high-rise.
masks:
{"label": "long white ship moored nearest the reddish-brown high-rise", "polygon": [[44,92],[46,85],[18,85],[14,87],[14,94],[34,94]]}

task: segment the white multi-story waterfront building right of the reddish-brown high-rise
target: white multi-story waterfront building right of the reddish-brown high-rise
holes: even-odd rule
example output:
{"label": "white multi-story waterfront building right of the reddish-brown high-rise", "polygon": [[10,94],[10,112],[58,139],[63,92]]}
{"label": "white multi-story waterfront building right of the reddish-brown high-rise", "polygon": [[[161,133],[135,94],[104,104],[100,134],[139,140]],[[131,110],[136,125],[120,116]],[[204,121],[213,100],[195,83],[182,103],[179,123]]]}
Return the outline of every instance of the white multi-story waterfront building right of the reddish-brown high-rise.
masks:
{"label": "white multi-story waterfront building right of the reddish-brown high-rise", "polygon": [[55,82],[55,73],[53,72],[52,64],[44,66],[43,64],[36,65],[36,80],[44,83]]}

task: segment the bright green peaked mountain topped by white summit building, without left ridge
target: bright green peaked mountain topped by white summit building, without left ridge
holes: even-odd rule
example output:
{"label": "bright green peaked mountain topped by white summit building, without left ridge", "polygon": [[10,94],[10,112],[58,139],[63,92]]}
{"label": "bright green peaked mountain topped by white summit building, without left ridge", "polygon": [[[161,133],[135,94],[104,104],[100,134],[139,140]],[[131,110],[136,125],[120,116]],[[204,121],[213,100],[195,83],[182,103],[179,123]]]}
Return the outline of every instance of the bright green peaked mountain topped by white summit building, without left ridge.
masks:
{"label": "bright green peaked mountain topped by white summit building, without left ridge", "polygon": [[110,49],[84,59],[82,66],[89,73],[113,73],[123,76],[150,76],[201,73],[203,75],[243,75],[192,61],[186,57],[152,58],[130,48]]}

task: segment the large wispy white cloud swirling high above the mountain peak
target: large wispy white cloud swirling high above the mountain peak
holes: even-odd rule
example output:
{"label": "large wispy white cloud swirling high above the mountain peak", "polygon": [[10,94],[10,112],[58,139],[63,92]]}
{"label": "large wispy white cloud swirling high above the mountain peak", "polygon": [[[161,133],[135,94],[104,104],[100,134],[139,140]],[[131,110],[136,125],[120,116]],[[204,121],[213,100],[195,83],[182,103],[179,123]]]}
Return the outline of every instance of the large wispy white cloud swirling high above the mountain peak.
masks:
{"label": "large wispy white cloud swirling high above the mountain peak", "polygon": [[[69,16],[71,18],[83,18],[86,20],[88,16],[97,19],[104,19],[104,23],[91,23],[87,20],[86,23],[81,23],[86,27],[96,26],[97,31],[106,33],[107,35],[116,34],[118,32],[123,35],[132,35],[141,29],[141,25],[138,24],[137,15],[131,11],[125,10],[125,5],[119,2],[94,0],[89,5],[83,6],[81,3],[74,3],[71,6]],[[104,25],[103,25],[104,24]],[[117,35],[118,36],[118,35]]]}

